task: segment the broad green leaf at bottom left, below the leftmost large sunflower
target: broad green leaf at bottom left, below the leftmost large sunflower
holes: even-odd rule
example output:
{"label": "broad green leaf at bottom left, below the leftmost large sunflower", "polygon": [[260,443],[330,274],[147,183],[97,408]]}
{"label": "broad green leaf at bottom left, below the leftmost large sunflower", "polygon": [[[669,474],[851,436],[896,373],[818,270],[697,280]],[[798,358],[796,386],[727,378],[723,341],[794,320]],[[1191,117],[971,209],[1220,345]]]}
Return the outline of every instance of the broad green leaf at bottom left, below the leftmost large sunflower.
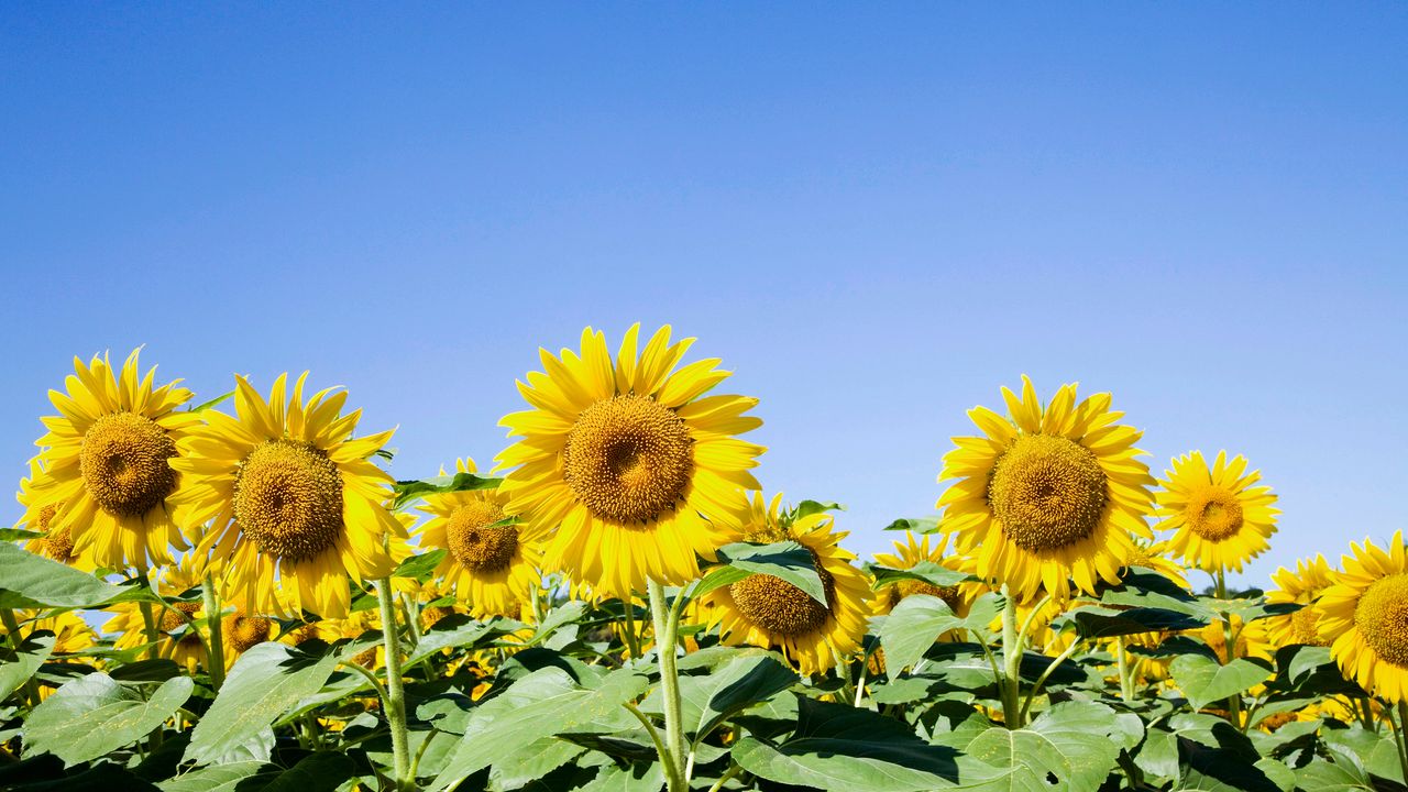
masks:
{"label": "broad green leaf at bottom left, below the leftmost large sunflower", "polygon": [[165,723],[194,686],[189,676],[177,676],[144,699],[103,672],[75,679],[34,707],[24,727],[25,755],[48,751],[69,767],[96,760]]}

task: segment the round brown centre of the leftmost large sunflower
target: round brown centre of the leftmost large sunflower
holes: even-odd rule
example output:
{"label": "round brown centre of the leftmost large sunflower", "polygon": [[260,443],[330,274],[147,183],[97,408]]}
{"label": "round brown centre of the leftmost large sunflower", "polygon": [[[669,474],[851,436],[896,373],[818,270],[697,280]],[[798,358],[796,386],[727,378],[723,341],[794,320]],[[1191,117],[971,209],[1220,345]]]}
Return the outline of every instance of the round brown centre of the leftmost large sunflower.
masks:
{"label": "round brown centre of the leftmost large sunflower", "polygon": [[108,413],[83,435],[79,472],[93,500],[108,514],[145,514],[176,489],[166,464],[176,443],[156,421],[135,413]]}

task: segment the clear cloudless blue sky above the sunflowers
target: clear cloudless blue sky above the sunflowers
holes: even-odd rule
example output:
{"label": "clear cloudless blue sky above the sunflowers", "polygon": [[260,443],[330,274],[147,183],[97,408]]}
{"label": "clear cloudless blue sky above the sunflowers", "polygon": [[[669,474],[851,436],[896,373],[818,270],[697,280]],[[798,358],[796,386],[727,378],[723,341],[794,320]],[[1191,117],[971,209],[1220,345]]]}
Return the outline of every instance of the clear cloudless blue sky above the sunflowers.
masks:
{"label": "clear cloudless blue sky above the sunflowers", "polygon": [[1408,527],[1405,52],[1402,3],[10,3],[0,465],[146,344],[346,385],[429,475],[538,345],[673,323],[856,551],[1026,372],[1250,457],[1260,583]]}

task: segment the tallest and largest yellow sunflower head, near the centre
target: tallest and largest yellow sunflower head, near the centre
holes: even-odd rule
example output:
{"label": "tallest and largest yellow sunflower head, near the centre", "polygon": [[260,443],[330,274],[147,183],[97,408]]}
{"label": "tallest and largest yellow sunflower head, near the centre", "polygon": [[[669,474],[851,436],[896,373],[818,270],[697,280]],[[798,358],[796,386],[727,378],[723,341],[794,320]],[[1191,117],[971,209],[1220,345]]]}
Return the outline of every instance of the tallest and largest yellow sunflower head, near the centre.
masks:
{"label": "tallest and largest yellow sunflower head, near the centre", "polygon": [[679,585],[698,576],[697,557],[736,534],[749,472],[763,447],[735,435],[762,421],[758,400],[703,396],[729,372],[718,359],[674,366],[693,338],[670,344],[662,327],[636,349],[632,326],[615,359],[605,335],[582,333],[582,352],[541,351],[546,373],[518,390],[534,407],[504,417],[518,443],[498,455],[508,472],[505,510],[531,531],[555,531],[549,569],[565,569],[600,595],[629,598],[646,579]]}

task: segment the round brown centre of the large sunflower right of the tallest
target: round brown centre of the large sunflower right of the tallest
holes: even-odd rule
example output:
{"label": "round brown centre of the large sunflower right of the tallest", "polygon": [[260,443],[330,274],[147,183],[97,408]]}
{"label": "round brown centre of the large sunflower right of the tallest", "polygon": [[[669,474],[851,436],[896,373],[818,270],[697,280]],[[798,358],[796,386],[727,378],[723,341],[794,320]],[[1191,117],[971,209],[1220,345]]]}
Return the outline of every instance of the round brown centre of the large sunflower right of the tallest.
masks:
{"label": "round brown centre of the large sunflower right of the tallest", "polygon": [[1074,544],[1095,531],[1108,483],[1090,450],[1064,437],[1025,434],[997,459],[987,499],[1002,534],[1028,552]]}

